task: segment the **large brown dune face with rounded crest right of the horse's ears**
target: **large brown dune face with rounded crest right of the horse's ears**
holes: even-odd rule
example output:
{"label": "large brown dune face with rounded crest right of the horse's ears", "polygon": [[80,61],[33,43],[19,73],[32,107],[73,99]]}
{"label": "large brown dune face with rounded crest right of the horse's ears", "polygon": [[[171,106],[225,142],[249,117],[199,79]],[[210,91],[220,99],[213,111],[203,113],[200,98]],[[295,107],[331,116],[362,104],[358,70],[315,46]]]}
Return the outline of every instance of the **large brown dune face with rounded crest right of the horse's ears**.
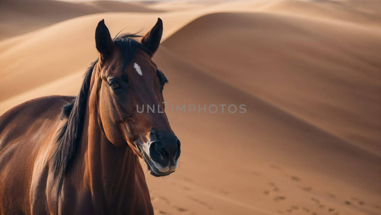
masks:
{"label": "large brown dune face with rounded crest right of the horse's ears", "polygon": [[193,21],[163,45],[217,78],[381,155],[380,38],[381,32],[334,22],[221,13]]}

